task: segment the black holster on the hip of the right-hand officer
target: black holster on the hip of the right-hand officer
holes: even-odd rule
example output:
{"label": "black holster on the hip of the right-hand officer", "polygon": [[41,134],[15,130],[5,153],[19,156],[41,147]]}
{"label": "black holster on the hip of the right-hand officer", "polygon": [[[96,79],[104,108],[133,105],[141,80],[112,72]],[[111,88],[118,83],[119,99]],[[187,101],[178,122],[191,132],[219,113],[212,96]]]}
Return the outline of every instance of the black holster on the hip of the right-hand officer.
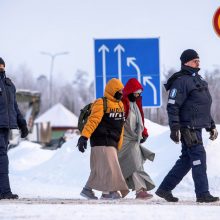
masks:
{"label": "black holster on the hip of the right-hand officer", "polygon": [[198,139],[196,131],[190,128],[181,128],[181,139],[187,147],[202,144],[202,141]]}

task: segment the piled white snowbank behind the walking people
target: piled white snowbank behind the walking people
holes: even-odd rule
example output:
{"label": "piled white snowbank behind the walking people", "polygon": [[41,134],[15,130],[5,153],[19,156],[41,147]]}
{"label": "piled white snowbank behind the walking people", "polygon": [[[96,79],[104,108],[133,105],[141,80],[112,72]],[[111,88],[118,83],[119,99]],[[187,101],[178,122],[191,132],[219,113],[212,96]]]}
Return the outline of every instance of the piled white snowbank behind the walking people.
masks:
{"label": "piled white snowbank behind the walking people", "polygon": [[[146,120],[150,137],[144,146],[156,153],[154,162],[147,161],[145,169],[158,186],[174,165],[181,147],[169,139],[169,128]],[[220,126],[218,126],[220,130]],[[76,148],[78,136],[62,148],[50,151],[24,141],[9,151],[10,180],[13,192],[27,198],[80,198],[81,188],[89,175],[90,147],[82,154]],[[212,142],[204,132],[207,151],[210,191],[220,195],[220,138]],[[154,191],[154,190],[153,190]],[[191,172],[174,191],[181,197],[194,197]],[[97,192],[97,195],[100,195]],[[128,198],[133,198],[130,193]],[[155,196],[156,197],[156,196]]]}

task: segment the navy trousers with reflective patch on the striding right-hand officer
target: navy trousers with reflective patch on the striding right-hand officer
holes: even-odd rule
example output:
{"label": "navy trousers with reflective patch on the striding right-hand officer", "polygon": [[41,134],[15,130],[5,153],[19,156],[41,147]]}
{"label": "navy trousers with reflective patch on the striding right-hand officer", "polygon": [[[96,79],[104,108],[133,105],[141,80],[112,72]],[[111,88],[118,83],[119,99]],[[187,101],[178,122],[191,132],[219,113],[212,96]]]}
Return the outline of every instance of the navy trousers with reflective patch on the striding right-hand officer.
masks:
{"label": "navy trousers with reflective patch on the striding right-hand officer", "polygon": [[202,144],[201,130],[196,131],[201,144],[188,147],[182,141],[180,158],[169,171],[159,186],[159,189],[172,191],[192,169],[192,177],[195,185],[196,197],[209,194],[208,178],[206,174],[206,152]]}

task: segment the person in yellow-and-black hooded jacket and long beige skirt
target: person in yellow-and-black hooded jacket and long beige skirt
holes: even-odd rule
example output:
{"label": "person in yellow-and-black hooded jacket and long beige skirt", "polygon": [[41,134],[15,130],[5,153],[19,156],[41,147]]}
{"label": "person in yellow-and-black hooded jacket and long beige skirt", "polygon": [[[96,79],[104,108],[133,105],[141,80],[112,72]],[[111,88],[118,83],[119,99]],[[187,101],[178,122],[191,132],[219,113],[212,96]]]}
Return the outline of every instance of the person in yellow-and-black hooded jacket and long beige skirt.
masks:
{"label": "person in yellow-and-black hooded jacket and long beige skirt", "polygon": [[121,149],[124,127],[124,107],[121,101],[123,84],[113,78],[105,87],[103,98],[97,99],[82,130],[77,147],[84,152],[90,139],[90,176],[80,193],[87,199],[98,199],[93,189],[102,191],[101,199],[120,199],[129,190],[118,162],[117,151]]}

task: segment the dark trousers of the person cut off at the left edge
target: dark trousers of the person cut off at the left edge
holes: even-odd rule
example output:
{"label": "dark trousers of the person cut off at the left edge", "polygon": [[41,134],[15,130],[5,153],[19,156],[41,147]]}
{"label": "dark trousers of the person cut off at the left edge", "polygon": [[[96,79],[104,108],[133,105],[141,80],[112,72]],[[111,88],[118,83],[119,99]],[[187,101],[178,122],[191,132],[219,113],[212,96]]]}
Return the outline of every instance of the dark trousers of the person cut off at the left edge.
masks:
{"label": "dark trousers of the person cut off at the left edge", "polygon": [[0,194],[11,192],[8,177],[8,137],[9,129],[0,128]]}

